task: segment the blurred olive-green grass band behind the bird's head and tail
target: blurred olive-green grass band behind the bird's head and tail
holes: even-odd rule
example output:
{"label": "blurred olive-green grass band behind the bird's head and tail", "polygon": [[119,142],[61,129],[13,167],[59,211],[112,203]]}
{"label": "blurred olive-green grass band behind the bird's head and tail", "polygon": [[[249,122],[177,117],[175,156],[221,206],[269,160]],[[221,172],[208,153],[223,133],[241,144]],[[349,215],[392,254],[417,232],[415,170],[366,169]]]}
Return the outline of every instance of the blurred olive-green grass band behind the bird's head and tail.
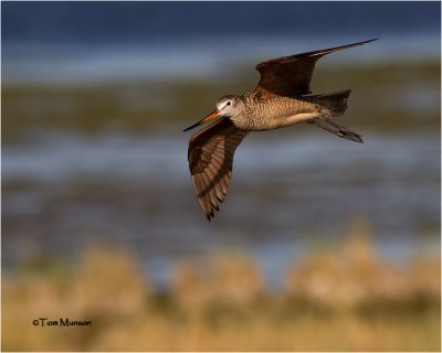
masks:
{"label": "blurred olive-green grass band behind the bird's head and tail", "polygon": [[[352,88],[343,118],[349,125],[382,131],[439,127],[440,76],[439,62],[319,66],[313,90]],[[257,79],[257,72],[243,67],[212,82],[3,86],[2,137],[8,142],[28,129],[94,133],[108,129],[144,132],[177,122],[185,127],[211,111],[221,96],[253,89]]]}

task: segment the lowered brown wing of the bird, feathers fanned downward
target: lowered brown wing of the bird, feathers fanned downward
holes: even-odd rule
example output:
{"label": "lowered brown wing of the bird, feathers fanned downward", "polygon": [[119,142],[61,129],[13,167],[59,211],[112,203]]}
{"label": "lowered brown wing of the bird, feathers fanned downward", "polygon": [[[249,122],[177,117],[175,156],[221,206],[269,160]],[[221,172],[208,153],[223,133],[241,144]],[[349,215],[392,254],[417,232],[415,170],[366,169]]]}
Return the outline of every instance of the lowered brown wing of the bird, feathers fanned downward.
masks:
{"label": "lowered brown wing of the bird, feathers fanned downward", "polygon": [[198,201],[210,221],[224,201],[232,176],[233,153],[248,131],[228,118],[194,133],[189,141],[189,169]]}

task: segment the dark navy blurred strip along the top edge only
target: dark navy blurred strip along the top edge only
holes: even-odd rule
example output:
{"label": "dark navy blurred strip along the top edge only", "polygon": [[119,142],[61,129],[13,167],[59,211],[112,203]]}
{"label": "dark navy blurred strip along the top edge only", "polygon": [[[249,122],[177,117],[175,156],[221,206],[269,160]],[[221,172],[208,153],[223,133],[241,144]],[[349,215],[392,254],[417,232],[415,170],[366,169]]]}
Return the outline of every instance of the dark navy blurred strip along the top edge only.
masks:
{"label": "dark navy blurred strip along the top edge only", "polygon": [[[25,2],[2,3],[3,35],[13,41],[164,42],[238,34],[312,38],[440,30],[436,2]],[[315,25],[312,25],[314,22]],[[27,24],[27,25],[24,25]],[[376,25],[376,26],[373,26]],[[56,31],[54,31],[56,30]]]}

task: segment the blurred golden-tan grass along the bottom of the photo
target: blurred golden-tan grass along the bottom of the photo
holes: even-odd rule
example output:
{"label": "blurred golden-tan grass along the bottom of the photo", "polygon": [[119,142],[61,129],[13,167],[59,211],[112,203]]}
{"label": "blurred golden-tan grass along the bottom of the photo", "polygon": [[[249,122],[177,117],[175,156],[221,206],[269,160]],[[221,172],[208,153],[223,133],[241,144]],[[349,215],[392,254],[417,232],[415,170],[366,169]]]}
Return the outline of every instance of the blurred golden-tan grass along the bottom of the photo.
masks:
{"label": "blurred golden-tan grass along the bottom of the photo", "polygon": [[[30,266],[31,265],[31,266]],[[126,250],[91,247],[2,278],[3,351],[440,351],[440,257],[378,257],[362,222],[266,287],[245,254],[176,265],[159,291]],[[92,327],[34,327],[36,318]]]}

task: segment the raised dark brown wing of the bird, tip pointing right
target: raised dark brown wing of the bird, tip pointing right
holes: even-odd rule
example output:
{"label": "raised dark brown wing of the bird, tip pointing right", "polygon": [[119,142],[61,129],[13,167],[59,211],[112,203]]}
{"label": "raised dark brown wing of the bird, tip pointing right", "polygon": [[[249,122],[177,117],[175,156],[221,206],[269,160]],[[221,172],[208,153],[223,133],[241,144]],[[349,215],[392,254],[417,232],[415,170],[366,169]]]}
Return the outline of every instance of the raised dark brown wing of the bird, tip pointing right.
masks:
{"label": "raised dark brown wing of the bird, tip pointing right", "polygon": [[324,55],[362,45],[377,39],[354,44],[324,49],[292,56],[269,60],[256,65],[261,74],[256,92],[262,95],[298,96],[311,93],[312,74],[316,62]]}

